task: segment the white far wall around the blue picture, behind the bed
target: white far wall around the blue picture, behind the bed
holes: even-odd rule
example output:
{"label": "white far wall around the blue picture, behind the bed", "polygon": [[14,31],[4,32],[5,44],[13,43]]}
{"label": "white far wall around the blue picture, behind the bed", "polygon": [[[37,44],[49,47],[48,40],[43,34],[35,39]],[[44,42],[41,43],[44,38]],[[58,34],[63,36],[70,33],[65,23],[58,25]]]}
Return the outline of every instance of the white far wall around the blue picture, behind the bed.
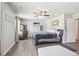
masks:
{"label": "white far wall around the blue picture, behind the bed", "polygon": [[29,20],[29,19],[25,19],[25,20],[21,20],[21,24],[27,25],[27,30],[28,30],[28,37],[32,37],[32,34],[34,32],[38,32],[40,31],[40,26],[35,27],[33,25],[33,22],[39,22],[40,24],[43,25],[43,30],[45,29],[45,21],[41,21],[41,20]]}

